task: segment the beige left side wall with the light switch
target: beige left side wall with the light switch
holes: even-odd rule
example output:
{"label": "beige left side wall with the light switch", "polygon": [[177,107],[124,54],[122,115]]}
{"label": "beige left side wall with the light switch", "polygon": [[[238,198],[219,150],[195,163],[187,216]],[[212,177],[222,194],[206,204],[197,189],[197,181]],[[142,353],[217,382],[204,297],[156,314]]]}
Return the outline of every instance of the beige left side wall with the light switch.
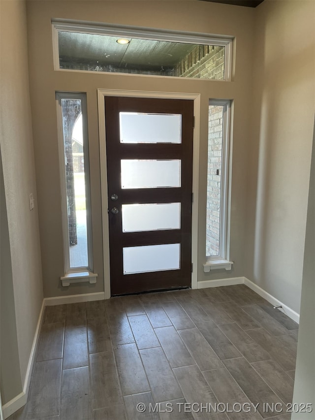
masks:
{"label": "beige left side wall with the light switch", "polygon": [[[1,0],[0,13],[0,147],[23,385],[43,300],[25,2]],[[32,212],[30,193],[35,198]],[[13,317],[11,323],[14,329]]]}

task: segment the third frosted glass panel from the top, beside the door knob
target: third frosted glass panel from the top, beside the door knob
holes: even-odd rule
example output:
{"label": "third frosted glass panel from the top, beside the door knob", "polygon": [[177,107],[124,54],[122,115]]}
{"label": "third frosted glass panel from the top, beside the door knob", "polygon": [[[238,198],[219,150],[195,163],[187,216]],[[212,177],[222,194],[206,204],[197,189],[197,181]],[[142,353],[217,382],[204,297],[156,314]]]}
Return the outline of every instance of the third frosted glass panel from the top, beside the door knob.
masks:
{"label": "third frosted glass panel from the top, beside the door knob", "polygon": [[123,232],[179,229],[181,203],[123,204]]}

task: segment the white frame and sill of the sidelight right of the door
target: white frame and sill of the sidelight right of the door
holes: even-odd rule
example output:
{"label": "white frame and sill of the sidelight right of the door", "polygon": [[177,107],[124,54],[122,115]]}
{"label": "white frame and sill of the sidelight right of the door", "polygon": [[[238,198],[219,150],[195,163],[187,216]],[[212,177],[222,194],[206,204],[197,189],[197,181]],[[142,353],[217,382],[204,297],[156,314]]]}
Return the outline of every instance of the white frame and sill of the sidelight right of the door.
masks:
{"label": "white frame and sill of the sidelight right of the door", "polygon": [[[230,213],[231,213],[231,173],[232,173],[232,100],[209,99],[209,105],[223,106],[222,159],[221,159],[221,200],[220,200],[220,242],[219,255],[207,256],[203,264],[204,272],[214,269],[230,270]],[[208,156],[208,155],[207,155]],[[208,170],[207,170],[208,174]]]}

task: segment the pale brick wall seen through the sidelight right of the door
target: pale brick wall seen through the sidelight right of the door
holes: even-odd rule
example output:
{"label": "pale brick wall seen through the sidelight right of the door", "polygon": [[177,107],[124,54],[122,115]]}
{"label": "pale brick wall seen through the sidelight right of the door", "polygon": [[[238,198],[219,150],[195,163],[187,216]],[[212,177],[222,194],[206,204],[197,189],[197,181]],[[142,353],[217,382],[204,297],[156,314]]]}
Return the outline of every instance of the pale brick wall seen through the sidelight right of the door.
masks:
{"label": "pale brick wall seen through the sidelight right of the door", "polygon": [[[223,107],[209,106],[206,255],[219,254]],[[217,175],[217,171],[219,174]]]}

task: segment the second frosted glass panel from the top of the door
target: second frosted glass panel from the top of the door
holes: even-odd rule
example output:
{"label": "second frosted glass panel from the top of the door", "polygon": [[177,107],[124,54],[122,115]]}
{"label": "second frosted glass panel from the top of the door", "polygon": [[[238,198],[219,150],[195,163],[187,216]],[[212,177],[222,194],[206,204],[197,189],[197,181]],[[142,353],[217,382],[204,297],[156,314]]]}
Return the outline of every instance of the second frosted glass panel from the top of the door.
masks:
{"label": "second frosted glass panel from the top of the door", "polygon": [[181,161],[122,160],[122,188],[181,186]]}

